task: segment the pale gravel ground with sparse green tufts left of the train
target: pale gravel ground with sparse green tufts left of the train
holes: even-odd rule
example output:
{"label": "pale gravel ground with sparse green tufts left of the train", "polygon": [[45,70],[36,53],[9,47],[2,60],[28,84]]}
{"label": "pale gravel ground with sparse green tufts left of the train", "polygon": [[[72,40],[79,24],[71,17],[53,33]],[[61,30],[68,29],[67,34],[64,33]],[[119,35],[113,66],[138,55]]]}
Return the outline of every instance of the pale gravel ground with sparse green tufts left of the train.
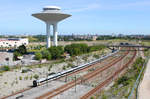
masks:
{"label": "pale gravel ground with sparse green tufts left of the train", "polygon": [[[108,53],[109,51],[107,50],[106,52]],[[51,64],[39,68],[31,68],[31,71],[28,71],[27,73],[22,73],[21,71],[23,69],[27,69],[28,67],[22,67],[21,69],[14,69],[12,71],[4,72],[0,75],[0,97],[32,86],[32,82],[35,79],[35,74],[37,74],[39,78],[43,78],[46,77],[48,73],[57,73],[63,71],[63,67],[67,66],[68,63],[72,63],[76,66],[92,61],[96,59],[94,57],[95,54],[97,53],[91,53],[90,55],[81,55],[79,57],[76,57],[73,62],[65,61],[62,63],[53,64],[50,71],[49,66]],[[87,60],[84,60],[84,57],[87,57]]]}

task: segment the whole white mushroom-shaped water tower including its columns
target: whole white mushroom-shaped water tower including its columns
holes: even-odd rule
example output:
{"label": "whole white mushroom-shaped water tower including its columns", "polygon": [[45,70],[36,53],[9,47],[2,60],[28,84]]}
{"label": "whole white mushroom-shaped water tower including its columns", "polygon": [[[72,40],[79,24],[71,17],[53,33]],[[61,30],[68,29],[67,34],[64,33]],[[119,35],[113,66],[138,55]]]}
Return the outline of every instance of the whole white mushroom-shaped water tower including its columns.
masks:
{"label": "whole white mushroom-shaped water tower including its columns", "polygon": [[57,46],[57,24],[58,22],[70,17],[70,14],[61,12],[61,8],[57,6],[46,6],[40,13],[32,14],[32,16],[44,21],[46,23],[47,32],[47,48],[51,46],[50,26],[53,26],[53,45]]}

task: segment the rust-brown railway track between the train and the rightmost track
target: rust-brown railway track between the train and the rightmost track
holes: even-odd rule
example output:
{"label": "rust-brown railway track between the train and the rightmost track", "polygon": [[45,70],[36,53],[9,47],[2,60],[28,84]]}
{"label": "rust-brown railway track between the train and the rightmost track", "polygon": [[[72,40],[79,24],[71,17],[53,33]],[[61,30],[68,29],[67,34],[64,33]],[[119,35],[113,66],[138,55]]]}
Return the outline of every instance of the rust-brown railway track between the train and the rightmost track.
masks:
{"label": "rust-brown railway track between the train and the rightmost track", "polygon": [[[97,74],[99,74],[100,72],[108,69],[109,67],[113,66],[114,64],[118,63],[119,61],[121,61],[129,52],[126,52],[125,55],[123,55],[122,57],[112,61],[111,63],[107,64],[107,66],[104,66],[102,68],[98,68],[97,70],[95,70],[94,72],[88,73],[86,75],[84,75],[82,78],[84,78],[84,81],[87,81],[91,78],[93,78],[94,76],[96,76]],[[51,99],[52,97],[74,87],[76,84],[80,84],[82,82],[81,78],[78,78],[76,81],[71,81],[59,88],[56,88],[53,91],[50,91],[40,97],[37,97],[37,99]]]}

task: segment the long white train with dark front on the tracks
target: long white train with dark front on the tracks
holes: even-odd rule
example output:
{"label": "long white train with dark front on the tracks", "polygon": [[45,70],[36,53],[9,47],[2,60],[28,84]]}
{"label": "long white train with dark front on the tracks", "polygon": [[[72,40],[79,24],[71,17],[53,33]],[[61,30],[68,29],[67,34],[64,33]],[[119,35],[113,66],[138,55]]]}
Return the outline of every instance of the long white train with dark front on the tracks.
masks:
{"label": "long white train with dark front on the tracks", "polygon": [[89,62],[89,63],[82,64],[82,65],[80,65],[80,66],[76,66],[76,67],[74,67],[74,68],[71,68],[71,69],[68,69],[68,70],[65,70],[65,71],[58,72],[58,73],[56,73],[56,74],[50,75],[50,76],[48,76],[47,78],[41,78],[41,79],[38,79],[38,80],[34,80],[34,81],[33,81],[33,87],[36,87],[36,86],[38,86],[38,85],[40,85],[40,84],[42,84],[42,83],[44,83],[44,82],[46,82],[46,81],[55,80],[55,79],[57,79],[57,78],[60,78],[60,77],[65,76],[65,75],[68,74],[68,73],[71,73],[71,72],[74,72],[74,71],[78,71],[78,70],[83,69],[83,68],[85,68],[85,67],[88,67],[88,66],[90,66],[90,65],[96,64],[97,62],[99,62],[99,61],[101,61],[101,60],[104,60],[104,59],[106,59],[107,57],[112,56],[112,55],[114,55],[114,54],[117,53],[117,52],[118,52],[118,50],[115,51],[115,52],[113,52],[113,53],[110,53],[110,54],[108,54],[108,55],[103,55],[101,58],[96,59],[96,60],[94,60],[94,61],[91,61],[91,62]]}

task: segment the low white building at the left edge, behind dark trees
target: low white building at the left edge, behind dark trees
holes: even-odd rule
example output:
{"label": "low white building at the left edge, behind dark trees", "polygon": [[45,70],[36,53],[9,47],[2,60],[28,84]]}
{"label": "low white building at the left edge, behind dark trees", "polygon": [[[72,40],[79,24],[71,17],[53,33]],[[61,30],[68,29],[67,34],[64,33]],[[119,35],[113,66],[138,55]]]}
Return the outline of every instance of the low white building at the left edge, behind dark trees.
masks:
{"label": "low white building at the left edge, behind dark trees", "polygon": [[9,38],[9,39],[0,39],[0,47],[19,47],[20,45],[28,45],[28,38]]}

